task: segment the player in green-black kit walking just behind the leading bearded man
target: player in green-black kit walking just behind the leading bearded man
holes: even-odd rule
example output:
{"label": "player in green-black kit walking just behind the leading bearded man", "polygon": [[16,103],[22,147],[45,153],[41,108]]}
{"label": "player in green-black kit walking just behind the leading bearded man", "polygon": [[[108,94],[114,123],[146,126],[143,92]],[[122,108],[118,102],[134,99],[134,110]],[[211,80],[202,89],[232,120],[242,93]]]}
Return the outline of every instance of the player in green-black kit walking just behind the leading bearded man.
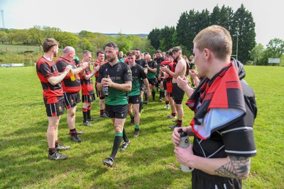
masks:
{"label": "player in green-black kit walking just behind the leading bearded man", "polygon": [[[129,64],[129,67],[131,68],[132,72],[132,88],[131,91],[129,91],[129,115],[131,118],[131,125],[135,123],[135,130],[134,130],[134,137],[138,137],[139,130],[140,130],[140,113],[139,113],[139,106],[141,102],[141,96],[140,96],[140,85],[141,80],[144,82],[147,91],[148,91],[148,97],[151,96],[151,89],[148,83],[147,76],[143,70],[143,67],[141,67],[139,64],[135,62],[135,55],[136,52],[133,50],[130,50],[126,53],[126,58],[128,59],[127,64]],[[132,111],[133,106],[133,111]],[[133,114],[134,112],[134,114]]]}

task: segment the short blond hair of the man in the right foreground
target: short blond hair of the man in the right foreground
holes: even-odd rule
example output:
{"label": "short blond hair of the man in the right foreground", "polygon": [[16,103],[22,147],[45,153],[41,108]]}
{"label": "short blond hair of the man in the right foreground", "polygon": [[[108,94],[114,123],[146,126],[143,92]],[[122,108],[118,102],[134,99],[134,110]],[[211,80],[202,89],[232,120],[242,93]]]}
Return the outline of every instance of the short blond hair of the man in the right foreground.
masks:
{"label": "short blond hair of the man in the right foreground", "polygon": [[198,50],[207,48],[214,53],[218,59],[231,57],[232,40],[228,30],[219,25],[211,25],[204,28],[193,40]]}

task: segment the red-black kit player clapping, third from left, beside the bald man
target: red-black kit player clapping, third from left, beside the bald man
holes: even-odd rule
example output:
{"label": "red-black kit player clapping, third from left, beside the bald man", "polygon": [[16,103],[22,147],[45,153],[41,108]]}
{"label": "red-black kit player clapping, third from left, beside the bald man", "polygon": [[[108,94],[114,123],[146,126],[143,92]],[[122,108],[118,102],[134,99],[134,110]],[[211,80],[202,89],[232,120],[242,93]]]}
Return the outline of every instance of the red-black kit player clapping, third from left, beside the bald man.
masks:
{"label": "red-black kit player clapping, third from left, beside the bald man", "polygon": [[[88,62],[89,66],[90,63],[89,61],[92,59],[92,52],[89,52],[89,50],[84,50],[83,51],[83,58],[82,62]],[[83,63],[79,64],[79,67],[82,66]],[[87,123],[87,126],[92,126],[89,121],[95,120],[91,118],[91,109],[92,109],[92,102],[96,100],[94,97],[94,85],[92,81],[92,76],[98,71],[97,67],[94,67],[94,71],[91,71],[89,68],[85,69],[83,71],[82,76],[80,76],[80,81],[81,81],[81,86],[82,86],[82,102],[83,102],[83,107],[82,107],[82,113],[83,113],[83,123]]]}

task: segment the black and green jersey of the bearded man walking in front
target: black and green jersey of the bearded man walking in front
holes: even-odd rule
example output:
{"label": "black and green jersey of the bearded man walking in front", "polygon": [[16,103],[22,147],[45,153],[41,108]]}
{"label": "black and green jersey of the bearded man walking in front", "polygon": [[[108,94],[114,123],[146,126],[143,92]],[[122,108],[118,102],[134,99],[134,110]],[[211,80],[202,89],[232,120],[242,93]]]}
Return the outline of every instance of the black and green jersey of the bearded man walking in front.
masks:
{"label": "black and green jersey of the bearded man walking in front", "polygon": [[[109,78],[116,84],[125,84],[126,81],[132,81],[132,74],[129,65],[123,62],[116,62],[113,67],[107,62],[99,67],[98,83],[103,78]],[[106,96],[104,103],[107,105],[125,105],[127,104],[126,91],[120,91],[116,88],[109,87],[109,95]]]}

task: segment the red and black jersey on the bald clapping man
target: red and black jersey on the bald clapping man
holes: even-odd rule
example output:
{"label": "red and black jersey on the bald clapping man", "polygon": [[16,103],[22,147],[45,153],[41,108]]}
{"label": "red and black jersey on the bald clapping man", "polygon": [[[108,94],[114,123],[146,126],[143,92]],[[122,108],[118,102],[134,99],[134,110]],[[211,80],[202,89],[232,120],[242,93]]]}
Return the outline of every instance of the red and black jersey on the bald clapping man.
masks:
{"label": "red and black jersey on the bald clapping man", "polygon": [[[63,57],[60,57],[55,61],[56,67],[58,67],[58,71],[61,73],[65,70],[65,67],[68,65],[72,66],[72,69],[76,69],[77,66],[75,62],[69,61]],[[63,91],[67,93],[77,93],[81,91],[81,82],[80,76],[78,74],[74,74],[75,81],[71,81],[70,76],[65,76],[62,82]]]}

